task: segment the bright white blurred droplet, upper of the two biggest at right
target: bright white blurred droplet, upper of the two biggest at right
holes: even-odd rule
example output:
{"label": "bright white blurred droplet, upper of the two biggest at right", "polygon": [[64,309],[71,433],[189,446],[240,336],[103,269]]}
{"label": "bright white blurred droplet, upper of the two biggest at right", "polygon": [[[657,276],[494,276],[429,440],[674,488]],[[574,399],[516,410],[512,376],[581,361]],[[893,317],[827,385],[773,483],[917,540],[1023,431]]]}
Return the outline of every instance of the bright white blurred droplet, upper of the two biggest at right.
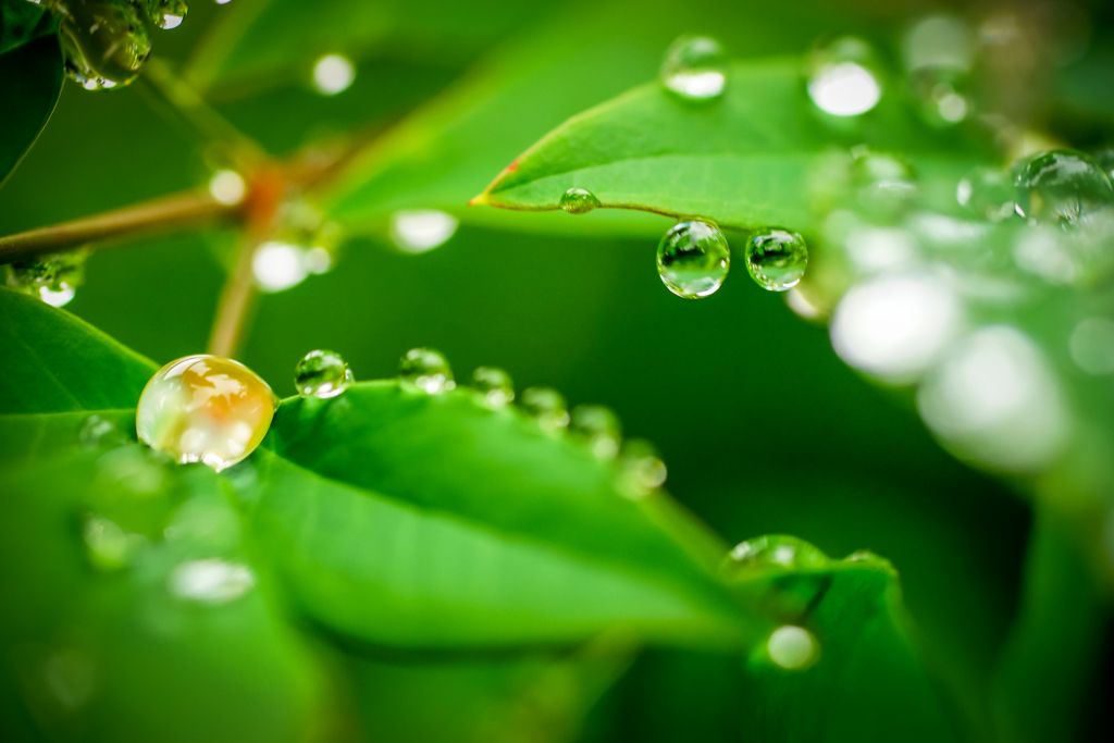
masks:
{"label": "bright white blurred droplet, upper of the two biggest at right", "polygon": [[832,348],[851,366],[895,384],[915,381],[959,332],[956,292],[930,274],[885,274],[853,286],[831,323]]}

